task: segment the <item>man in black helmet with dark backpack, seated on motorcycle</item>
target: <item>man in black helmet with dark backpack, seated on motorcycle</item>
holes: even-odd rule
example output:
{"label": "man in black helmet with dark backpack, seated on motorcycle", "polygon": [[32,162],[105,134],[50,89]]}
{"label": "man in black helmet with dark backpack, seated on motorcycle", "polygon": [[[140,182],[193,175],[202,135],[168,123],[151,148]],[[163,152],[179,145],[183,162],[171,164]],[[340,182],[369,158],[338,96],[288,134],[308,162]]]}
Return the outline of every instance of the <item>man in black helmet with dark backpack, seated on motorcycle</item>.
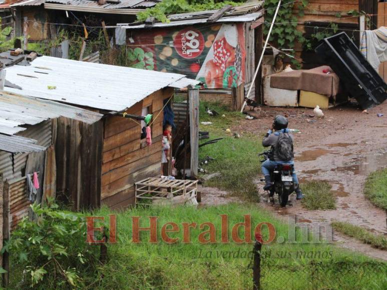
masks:
{"label": "man in black helmet with dark backpack, seated on motorcycle", "polygon": [[[274,118],[272,128],[267,131],[267,134],[262,140],[264,147],[271,146],[270,158],[262,163],[262,173],[265,176],[264,190],[269,190],[272,187],[270,171],[273,171],[278,164],[290,164],[293,166],[293,183],[294,191],[296,192],[296,198],[301,199],[303,194],[298,185],[298,178],[294,171],[293,161],[293,135],[287,128],[288,121],[286,117],[277,115]],[[273,130],[275,130],[273,132]],[[278,146],[278,142],[281,142],[281,146]],[[283,152],[285,151],[285,152]]]}

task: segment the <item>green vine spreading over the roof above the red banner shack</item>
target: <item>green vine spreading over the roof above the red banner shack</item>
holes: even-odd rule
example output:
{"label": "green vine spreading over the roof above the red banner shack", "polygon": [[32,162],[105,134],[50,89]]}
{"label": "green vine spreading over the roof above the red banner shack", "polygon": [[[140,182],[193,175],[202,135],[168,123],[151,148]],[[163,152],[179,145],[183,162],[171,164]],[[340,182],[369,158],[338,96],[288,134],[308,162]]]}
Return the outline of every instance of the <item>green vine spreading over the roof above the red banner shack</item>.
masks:
{"label": "green vine spreading over the roof above the red banner shack", "polygon": [[145,21],[148,17],[154,16],[159,21],[168,22],[168,14],[219,9],[225,5],[237,6],[243,2],[245,0],[163,0],[152,8],[137,13],[137,20]]}

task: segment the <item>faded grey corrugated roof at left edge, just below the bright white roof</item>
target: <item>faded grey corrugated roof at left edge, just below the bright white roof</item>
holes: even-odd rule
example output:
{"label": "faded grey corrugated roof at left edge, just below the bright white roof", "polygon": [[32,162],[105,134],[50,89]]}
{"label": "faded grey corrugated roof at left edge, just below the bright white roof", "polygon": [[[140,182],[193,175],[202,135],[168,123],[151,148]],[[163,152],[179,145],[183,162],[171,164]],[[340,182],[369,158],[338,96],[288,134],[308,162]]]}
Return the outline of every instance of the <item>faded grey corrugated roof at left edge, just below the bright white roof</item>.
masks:
{"label": "faded grey corrugated roof at left edge, just below the bright white roof", "polygon": [[13,135],[26,129],[21,125],[34,125],[51,118],[64,116],[91,124],[103,115],[55,101],[0,91],[0,116],[0,133]]}

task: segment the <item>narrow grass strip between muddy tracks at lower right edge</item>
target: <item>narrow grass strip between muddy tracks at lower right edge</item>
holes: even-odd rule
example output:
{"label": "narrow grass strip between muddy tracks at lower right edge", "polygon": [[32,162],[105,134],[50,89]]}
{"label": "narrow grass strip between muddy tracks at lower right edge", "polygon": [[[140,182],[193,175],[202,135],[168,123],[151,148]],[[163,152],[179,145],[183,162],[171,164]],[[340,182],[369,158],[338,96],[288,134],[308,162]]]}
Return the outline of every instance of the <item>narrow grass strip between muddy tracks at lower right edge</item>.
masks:
{"label": "narrow grass strip between muddy tracks at lower right edge", "polygon": [[385,238],[384,235],[374,234],[361,226],[353,225],[349,222],[333,221],[332,227],[335,230],[361,240],[364,243],[368,243],[376,248],[387,250],[387,238]]}

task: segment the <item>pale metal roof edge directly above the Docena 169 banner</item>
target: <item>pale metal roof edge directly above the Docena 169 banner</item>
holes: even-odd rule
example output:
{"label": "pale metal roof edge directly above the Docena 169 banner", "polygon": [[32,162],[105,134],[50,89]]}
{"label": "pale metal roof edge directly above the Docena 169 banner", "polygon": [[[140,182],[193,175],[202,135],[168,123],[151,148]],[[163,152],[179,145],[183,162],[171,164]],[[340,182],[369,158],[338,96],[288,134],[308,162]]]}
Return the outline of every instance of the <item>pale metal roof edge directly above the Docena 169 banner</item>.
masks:
{"label": "pale metal roof edge directly above the Docena 169 banner", "polygon": [[[227,16],[218,19],[215,22],[224,23],[224,22],[249,22],[255,21],[263,15],[263,11],[258,11],[250,14],[236,15],[236,16]],[[183,19],[170,22],[157,22],[153,25],[138,24],[138,25],[128,25],[128,24],[117,24],[117,26],[108,26],[108,27],[121,27],[126,29],[139,29],[139,28],[149,28],[149,27],[171,27],[171,26],[180,26],[180,25],[191,25],[198,23],[208,23],[208,17],[204,18],[192,18],[192,19]]]}

